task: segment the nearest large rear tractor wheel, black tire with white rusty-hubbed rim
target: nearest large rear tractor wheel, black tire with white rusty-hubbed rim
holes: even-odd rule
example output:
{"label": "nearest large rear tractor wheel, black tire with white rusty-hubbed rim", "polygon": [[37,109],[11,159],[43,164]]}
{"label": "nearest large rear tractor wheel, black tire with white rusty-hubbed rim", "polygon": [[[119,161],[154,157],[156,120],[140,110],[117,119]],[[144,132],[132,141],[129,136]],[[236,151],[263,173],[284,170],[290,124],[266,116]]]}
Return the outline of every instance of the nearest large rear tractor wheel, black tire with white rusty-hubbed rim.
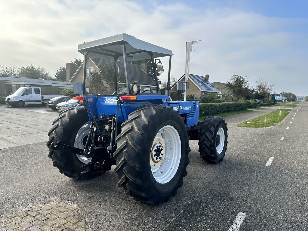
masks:
{"label": "nearest large rear tractor wheel, black tire with white rusty-hubbed rim", "polygon": [[188,140],[183,118],[173,107],[152,104],[138,108],[129,114],[116,138],[113,156],[118,185],[146,204],[169,201],[187,174]]}

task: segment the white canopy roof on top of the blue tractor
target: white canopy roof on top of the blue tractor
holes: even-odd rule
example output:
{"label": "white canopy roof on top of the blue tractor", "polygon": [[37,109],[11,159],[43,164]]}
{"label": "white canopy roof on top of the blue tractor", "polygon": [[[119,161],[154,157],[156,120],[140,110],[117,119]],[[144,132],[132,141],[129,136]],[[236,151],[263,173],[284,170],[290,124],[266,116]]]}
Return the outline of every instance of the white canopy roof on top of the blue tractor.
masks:
{"label": "white canopy roof on top of the blue tractor", "polygon": [[129,34],[117,34],[104,39],[98,39],[78,45],[78,51],[84,54],[90,51],[88,57],[97,57],[104,59],[113,59],[119,56],[118,60],[123,60],[123,50],[120,45],[126,44],[126,53],[128,61],[149,59],[147,51],[153,52],[154,58],[173,55],[172,51],[152,43],[136,39]]}

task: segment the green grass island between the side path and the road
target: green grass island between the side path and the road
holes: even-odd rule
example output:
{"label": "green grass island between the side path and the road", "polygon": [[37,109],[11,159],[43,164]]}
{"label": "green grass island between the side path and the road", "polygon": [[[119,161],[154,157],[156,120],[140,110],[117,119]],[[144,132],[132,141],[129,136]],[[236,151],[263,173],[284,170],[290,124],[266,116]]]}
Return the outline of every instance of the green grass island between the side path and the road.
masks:
{"label": "green grass island between the side path and the road", "polygon": [[279,115],[279,113],[280,113],[279,111],[271,111],[264,115],[260,115],[256,118],[253,118],[251,120],[247,120],[244,123],[237,124],[237,126],[244,127],[244,128],[273,127],[273,126],[276,126],[279,122],[281,122],[290,113],[290,111],[281,111],[281,115]]}

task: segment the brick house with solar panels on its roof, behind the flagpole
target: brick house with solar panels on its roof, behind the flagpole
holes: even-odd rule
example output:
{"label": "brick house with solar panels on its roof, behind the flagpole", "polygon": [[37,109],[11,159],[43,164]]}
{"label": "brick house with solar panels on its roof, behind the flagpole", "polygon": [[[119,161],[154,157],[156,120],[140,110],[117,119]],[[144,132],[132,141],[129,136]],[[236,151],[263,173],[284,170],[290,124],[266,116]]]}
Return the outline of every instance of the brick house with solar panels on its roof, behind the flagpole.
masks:
{"label": "brick house with solar panels on its roof, behind the flagpole", "polygon": [[[185,81],[183,75],[178,81]],[[186,82],[186,95],[193,95],[194,98],[200,99],[206,95],[217,97],[218,90],[209,82],[209,75],[193,75],[189,74]]]}

